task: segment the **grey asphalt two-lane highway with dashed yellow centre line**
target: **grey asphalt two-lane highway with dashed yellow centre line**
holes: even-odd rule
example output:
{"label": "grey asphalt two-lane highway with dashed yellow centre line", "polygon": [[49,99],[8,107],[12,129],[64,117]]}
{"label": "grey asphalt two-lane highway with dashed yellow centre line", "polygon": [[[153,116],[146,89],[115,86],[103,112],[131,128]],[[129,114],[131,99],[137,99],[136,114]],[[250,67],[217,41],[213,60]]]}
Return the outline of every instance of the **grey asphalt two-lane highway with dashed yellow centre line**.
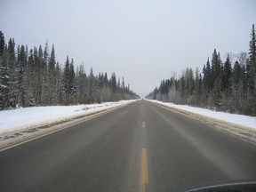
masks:
{"label": "grey asphalt two-lane highway with dashed yellow centre line", "polygon": [[256,146],[139,100],[0,152],[0,191],[180,191],[256,179]]}

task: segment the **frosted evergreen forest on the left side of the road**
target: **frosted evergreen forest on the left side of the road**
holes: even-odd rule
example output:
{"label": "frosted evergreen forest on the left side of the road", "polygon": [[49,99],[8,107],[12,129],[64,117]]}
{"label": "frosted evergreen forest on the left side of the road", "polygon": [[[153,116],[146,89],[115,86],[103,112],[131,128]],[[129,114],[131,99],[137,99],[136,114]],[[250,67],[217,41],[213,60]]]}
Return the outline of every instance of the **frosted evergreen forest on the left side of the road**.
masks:
{"label": "frosted evergreen forest on the left side of the road", "polygon": [[14,39],[4,42],[0,31],[0,109],[29,106],[71,105],[138,98],[126,85],[124,77],[115,72],[94,75],[85,73],[84,66],[74,68],[67,60],[64,68],[55,59],[46,43],[28,51],[23,44],[15,48]]}

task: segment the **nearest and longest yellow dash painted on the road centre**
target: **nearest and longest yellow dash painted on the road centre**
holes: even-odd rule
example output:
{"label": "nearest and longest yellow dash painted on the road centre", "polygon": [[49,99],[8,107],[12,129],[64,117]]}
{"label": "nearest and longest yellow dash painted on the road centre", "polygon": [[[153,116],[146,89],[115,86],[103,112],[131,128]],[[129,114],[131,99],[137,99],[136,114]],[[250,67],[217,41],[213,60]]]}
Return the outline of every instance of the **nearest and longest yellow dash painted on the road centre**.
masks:
{"label": "nearest and longest yellow dash painted on the road centre", "polygon": [[140,192],[146,192],[147,184],[148,184],[148,155],[147,155],[147,148],[142,148]]}

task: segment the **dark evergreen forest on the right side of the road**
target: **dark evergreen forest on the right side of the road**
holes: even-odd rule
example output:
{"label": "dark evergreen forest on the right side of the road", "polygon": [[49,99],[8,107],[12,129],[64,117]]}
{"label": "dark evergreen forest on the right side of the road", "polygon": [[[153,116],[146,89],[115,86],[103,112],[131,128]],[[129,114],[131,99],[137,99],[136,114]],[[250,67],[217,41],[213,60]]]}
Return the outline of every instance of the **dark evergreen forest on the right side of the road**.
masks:
{"label": "dark evergreen forest on the right side of the road", "polygon": [[[232,60],[235,62],[233,63]],[[170,101],[256,116],[256,39],[252,25],[249,52],[228,54],[225,62],[214,49],[203,73],[187,68],[177,78],[163,80],[148,99]]]}

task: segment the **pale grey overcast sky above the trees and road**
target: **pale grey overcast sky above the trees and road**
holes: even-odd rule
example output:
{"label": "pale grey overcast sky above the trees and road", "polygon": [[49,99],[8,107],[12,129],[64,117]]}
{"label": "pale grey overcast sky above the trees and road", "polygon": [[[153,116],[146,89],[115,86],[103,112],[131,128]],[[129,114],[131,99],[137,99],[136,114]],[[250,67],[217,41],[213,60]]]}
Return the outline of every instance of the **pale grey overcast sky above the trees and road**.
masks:
{"label": "pale grey overcast sky above the trees and road", "polygon": [[202,71],[213,49],[248,52],[254,0],[0,0],[5,41],[55,46],[86,73],[113,71],[145,96],[189,67]]}

